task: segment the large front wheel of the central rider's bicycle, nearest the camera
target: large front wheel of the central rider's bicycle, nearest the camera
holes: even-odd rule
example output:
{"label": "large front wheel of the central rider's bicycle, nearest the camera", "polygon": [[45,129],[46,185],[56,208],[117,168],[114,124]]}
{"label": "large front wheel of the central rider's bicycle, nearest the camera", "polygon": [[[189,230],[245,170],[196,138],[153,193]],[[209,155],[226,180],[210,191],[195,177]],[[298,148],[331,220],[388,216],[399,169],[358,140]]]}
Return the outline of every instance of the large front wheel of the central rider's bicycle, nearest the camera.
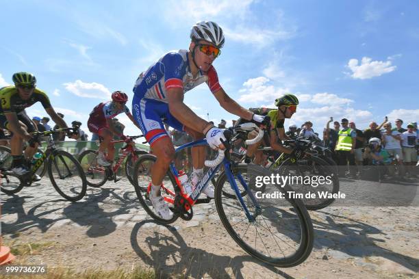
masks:
{"label": "large front wheel of the central rider's bicycle, nearest the camera", "polygon": [[[237,196],[227,198],[223,195],[223,191],[234,192],[225,172],[220,175],[215,191],[217,212],[229,235],[251,256],[276,267],[293,267],[303,263],[312,252],[312,220],[301,200],[280,196],[271,198],[279,193],[287,197],[289,187],[278,191],[276,185],[256,185],[257,176],[262,177],[265,172],[249,168],[246,164],[240,164],[233,170],[238,191],[245,191],[245,187],[251,191],[243,200],[254,220],[246,217]],[[251,190],[257,188],[264,191],[256,193]],[[253,195],[259,208],[251,199]]]}

